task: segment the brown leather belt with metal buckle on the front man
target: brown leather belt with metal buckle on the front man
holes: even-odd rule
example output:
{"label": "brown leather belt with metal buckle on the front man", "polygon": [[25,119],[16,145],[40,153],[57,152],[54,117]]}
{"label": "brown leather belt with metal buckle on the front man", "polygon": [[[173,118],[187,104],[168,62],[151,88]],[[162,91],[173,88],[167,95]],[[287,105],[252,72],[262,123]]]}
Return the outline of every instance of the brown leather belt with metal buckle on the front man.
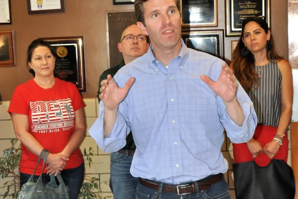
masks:
{"label": "brown leather belt with metal buckle on the front man", "polygon": [[[205,181],[198,182],[199,191],[203,191],[211,188],[213,184],[222,180],[223,176],[224,174],[216,174],[215,176]],[[159,183],[149,181],[143,178],[139,178],[139,182],[145,187],[151,188],[153,190],[159,189]],[[162,191],[169,192],[169,193],[176,193],[177,195],[186,195],[186,194],[196,193],[196,188],[194,183],[189,183],[186,185],[177,185],[177,186],[163,184]]]}

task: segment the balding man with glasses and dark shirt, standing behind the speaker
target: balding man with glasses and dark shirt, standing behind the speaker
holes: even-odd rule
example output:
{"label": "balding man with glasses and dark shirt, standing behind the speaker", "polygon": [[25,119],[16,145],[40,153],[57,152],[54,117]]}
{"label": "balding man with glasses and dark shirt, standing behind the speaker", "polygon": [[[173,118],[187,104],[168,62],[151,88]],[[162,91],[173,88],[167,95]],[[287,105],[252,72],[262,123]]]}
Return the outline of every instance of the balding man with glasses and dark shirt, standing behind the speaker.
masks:
{"label": "balding man with glasses and dark shirt, standing behind the speaker", "polygon": [[[106,80],[108,75],[114,77],[123,66],[147,53],[148,48],[147,37],[137,25],[130,25],[123,31],[120,43],[118,43],[118,49],[122,53],[123,59],[119,65],[104,71],[100,76],[97,92],[98,101],[100,101],[100,82]],[[114,199],[123,199],[124,196],[127,199],[133,199],[136,196],[138,178],[130,174],[135,150],[136,145],[132,132],[130,132],[126,138],[125,147],[118,152],[111,153],[110,188]]]}

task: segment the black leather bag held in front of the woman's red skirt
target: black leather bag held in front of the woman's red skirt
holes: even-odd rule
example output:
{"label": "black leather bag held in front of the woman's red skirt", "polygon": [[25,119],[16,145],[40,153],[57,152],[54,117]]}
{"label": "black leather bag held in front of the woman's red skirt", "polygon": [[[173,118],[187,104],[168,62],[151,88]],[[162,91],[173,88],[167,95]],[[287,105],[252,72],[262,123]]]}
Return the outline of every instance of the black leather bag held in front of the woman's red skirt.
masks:
{"label": "black leather bag held in front of the woman's red skirt", "polygon": [[236,199],[294,199],[293,169],[283,160],[265,166],[255,161],[233,164]]}

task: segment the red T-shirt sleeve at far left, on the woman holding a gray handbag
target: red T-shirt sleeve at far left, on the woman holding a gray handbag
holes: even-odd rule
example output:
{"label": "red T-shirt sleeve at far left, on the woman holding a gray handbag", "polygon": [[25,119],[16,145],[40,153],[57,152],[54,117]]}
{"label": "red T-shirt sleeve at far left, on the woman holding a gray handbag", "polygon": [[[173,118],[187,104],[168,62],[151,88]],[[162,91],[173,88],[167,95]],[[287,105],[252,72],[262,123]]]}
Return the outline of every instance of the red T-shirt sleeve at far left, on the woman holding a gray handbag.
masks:
{"label": "red T-shirt sleeve at far left, on the woman holding a gray handbag", "polygon": [[24,94],[22,92],[24,92],[24,90],[20,86],[16,87],[16,89],[14,90],[7,110],[10,115],[12,112],[29,115],[29,103],[27,100],[24,99]]}

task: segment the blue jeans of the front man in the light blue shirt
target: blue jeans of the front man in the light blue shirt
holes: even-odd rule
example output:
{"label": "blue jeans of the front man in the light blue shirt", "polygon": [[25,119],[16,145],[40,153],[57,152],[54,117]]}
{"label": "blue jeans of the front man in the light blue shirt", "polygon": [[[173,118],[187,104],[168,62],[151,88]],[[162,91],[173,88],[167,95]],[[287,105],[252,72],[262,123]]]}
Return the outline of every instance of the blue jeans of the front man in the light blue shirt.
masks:
{"label": "blue jeans of the front man in the light blue shirt", "polygon": [[[202,179],[202,181],[203,180],[205,179]],[[195,184],[197,183],[195,182]],[[162,185],[159,187],[159,190],[162,190]],[[198,190],[198,187],[196,190]],[[153,190],[139,183],[137,186],[136,199],[230,199],[230,194],[228,192],[227,183],[223,177],[221,181],[213,184],[208,190],[199,190],[197,193],[181,196],[175,193]]]}

